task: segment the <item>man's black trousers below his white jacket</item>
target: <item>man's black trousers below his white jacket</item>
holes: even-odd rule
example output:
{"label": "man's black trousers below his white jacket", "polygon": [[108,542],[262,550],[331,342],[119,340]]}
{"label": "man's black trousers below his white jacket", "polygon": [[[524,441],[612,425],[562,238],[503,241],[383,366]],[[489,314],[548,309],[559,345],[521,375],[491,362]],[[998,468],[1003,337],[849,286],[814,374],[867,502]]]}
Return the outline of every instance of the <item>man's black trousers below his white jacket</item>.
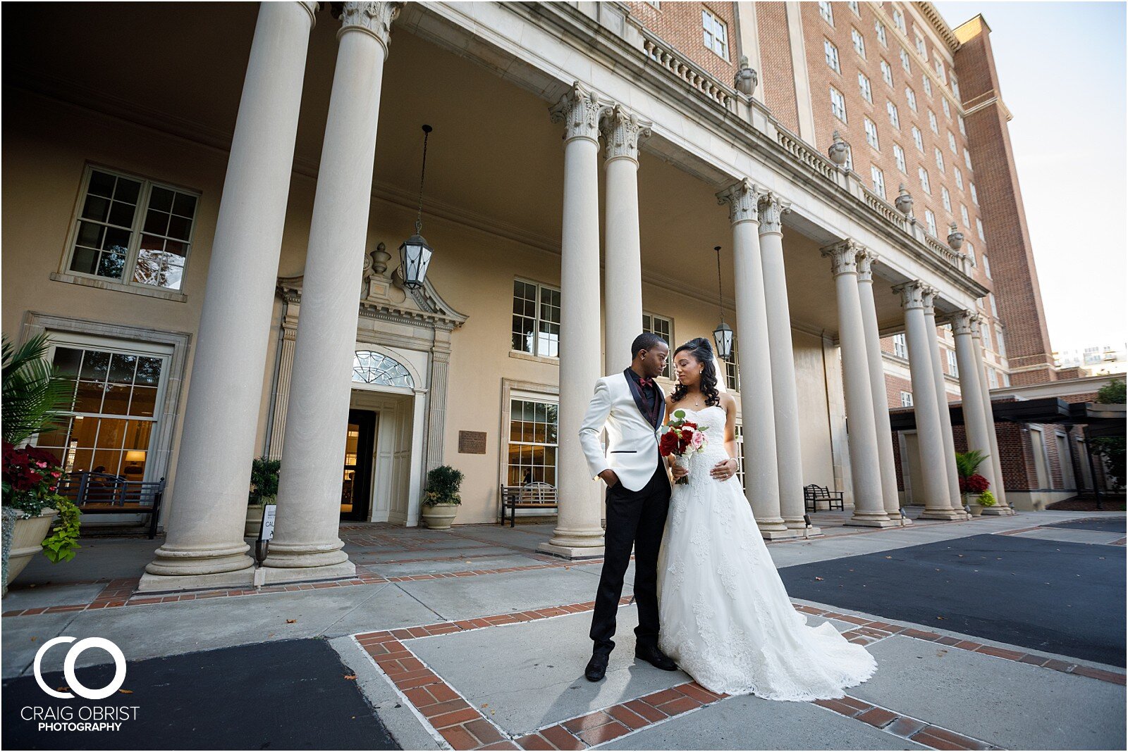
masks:
{"label": "man's black trousers below his white jacket", "polygon": [[603,571],[599,575],[596,609],[591,617],[594,652],[608,654],[615,647],[615,617],[623,597],[623,576],[635,552],[635,602],[640,645],[658,645],[658,549],[662,545],[666,514],[670,509],[670,481],[661,457],[654,475],[641,491],[622,483],[607,490],[607,530]]}

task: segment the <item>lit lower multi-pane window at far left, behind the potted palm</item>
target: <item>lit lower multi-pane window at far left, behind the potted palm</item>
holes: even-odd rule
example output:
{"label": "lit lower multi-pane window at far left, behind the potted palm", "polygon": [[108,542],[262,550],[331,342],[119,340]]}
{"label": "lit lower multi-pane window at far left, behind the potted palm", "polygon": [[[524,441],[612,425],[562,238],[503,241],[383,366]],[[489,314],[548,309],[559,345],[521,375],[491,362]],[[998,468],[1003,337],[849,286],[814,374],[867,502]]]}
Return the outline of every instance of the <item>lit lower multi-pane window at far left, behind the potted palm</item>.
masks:
{"label": "lit lower multi-pane window at far left, behind the potted palm", "polygon": [[52,360],[69,382],[70,414],[55,430],[39,433],[36,446],[68,473],[144,480],[167,357],[60,344]]}

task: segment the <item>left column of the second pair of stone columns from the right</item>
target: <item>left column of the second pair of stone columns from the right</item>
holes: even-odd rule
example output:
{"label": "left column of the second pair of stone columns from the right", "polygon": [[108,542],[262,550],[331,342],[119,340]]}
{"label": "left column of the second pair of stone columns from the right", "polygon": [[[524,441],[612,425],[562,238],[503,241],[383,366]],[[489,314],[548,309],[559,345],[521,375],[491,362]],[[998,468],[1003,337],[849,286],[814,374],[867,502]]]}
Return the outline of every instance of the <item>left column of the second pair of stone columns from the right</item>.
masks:
{"label": "left column of the second pair of stone columns from the right", "polygon": [[920,477],[924,480],[924,512],[931,520],[962,519],[952,509],[944,463],[944,439],[941,436],[940,409],[936,403],[936,378],[933,373],[928,340],[936,339],[936,328],[928,328],[924,315],[927,286],[911,281],[897,288],[905,308],[905,340],[909,350],[909,375],[913,378],[913,411],[916,414]]}

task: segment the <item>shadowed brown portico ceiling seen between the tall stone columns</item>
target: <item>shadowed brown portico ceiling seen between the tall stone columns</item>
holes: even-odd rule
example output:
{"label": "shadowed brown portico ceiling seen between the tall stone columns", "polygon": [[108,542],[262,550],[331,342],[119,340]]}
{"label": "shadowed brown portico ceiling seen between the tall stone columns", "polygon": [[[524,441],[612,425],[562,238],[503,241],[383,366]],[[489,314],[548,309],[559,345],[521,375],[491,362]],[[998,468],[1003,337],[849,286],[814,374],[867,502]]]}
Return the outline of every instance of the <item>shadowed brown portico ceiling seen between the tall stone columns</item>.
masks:
{"label": "shadowed brown portico ceiling seen between the tall stone columns", "polygon": [[[210,143],[229,143],[256,3],[103,3],[71,7],[42,23],[37,6],[5,7],[5,84],[43,90]],[[303,82],[296,168],[315,171],[328,109],[338,24],[318,14]],[[15,34],[14,30],[18,30]],[[381,92],[373,183],[414,204],[422,133],[434,127],[425,206],[472,217],[546,252],[558,252],[563,204],[562,127],[548,102],[404,28],[393,33]],[[714,245],[722,245],[724,297],[733,299],[732,233],[711,186],[653,153],[641,158],[643,271],[697,290],[714,305]],[[600,186],[600,197],[603,191]],[[377,211],[379,204],[376,205]],[[426,216],[424,216],[424,221]],[[785,233],[793,319],[837,330],[834,280],[818,243]],[[883,325],[900,319],[876,285]]]}

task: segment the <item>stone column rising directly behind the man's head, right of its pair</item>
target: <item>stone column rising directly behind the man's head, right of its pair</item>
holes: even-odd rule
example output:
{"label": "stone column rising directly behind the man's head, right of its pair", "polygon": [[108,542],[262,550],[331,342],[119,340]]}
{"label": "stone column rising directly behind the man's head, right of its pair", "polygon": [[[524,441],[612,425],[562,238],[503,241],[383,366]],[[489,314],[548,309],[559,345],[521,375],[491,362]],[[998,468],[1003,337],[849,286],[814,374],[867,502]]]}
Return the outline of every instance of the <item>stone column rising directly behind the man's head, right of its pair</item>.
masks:
{"label": "stone column rising directly behind the man's head, right of its pair", "polygon": [[[622,105],[603,111],[600,131],[605,155],[606,214],[603,238],[603,305],[607,321],[606,373],[631,365],[631,344],[642,332],[642,250],[638,240],[638,143],[650,135],[650,123]],[[672,349],[673,342],[670,342]],[[672,353],[671,353],[672,357]]]}

